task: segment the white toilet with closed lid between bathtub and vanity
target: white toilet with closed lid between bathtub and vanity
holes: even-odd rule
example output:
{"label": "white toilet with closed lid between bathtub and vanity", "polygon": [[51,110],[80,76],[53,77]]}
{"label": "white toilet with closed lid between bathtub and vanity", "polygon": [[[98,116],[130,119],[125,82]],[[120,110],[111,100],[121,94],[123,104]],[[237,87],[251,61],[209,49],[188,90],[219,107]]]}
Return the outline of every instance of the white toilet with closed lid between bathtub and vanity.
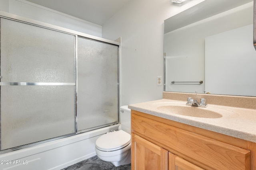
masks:
{"label": "white toilet with closed lid between bathtub and vanity", "polygon": [[131,163],[130,115],[128,106],[121,106],[122,130],[108,132],[96,140],[95,151],[101,160],[111,162],[114,166]]}

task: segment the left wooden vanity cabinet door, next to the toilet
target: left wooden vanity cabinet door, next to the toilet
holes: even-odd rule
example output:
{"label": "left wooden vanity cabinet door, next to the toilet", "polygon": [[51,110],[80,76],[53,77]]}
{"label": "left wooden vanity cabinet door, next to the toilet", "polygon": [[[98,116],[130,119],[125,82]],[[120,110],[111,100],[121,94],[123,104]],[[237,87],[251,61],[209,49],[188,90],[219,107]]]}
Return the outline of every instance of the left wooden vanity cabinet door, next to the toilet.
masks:
{"label": "left wooden vanity cabinet door, next to the toilet", "polygon": [[132,133],[132,170],[168,170],[168,151]]}

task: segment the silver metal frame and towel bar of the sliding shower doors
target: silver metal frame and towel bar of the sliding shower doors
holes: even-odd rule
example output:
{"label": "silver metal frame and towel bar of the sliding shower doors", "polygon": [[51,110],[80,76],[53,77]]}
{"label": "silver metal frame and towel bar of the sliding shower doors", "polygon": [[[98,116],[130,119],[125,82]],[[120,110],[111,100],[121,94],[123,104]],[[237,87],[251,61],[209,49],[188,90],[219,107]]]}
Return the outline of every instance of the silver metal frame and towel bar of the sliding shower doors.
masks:
{"label": "silver metal frame and towel bar of the sliding shower doors", "polygon": [[107,126],[119,123],[119,107],[120,107],[120,100],[121,100],[121,97],[120,97],[121,96],[120,95],[121,94],[121,88],[120,88],[120,82],[121,82],[121,78],[120,78],[120,75],[121,75],[120,74],[121,43],[119,43],[117,41],[112,41],[112,40],[104,39],[104,38],[101,38],[101,37],[96,37],[94,35],[89,35],[89,34],[86,34],[86,33],[81,33],[79,31],[74,31],[74,30],[71,30],[71,29],[63,28],[63,27],[60,27],[60,26],[52,25],[52,24],[49,24],[49,23],[44,23],[44,22],[41,22],[41,21],[36,21],[36,20],[29,19],[29,18],[24,18],[22,16],[17,16],[17,15],[14,15],[14,14],[3,12],[3,11],[0,11],[0,18],[5,18],[5,19],[8,19],[8,20],[18,21],[18,22],[22,22],[22,23],[26,23],[26,24],[30,24],[30,25],[46,28],[46,29],[51,29],[51,30],[54,30],[54,31],[59,31],[59,32],[63,32],[63,33],[67,33],[67,34],[75,36],[75,42],[74,42],[75,43],[75,47],[74,47],[75,48],[74,49],[75,50],[75,57],[74,57],[74,60],[75,60],[75,70],[74,70],[75,71],[75,83],[0,82],[0,86],[44,86],[44,85],[51,85],[51,86],[55,86],[55,85],[58,85],[58,86],[65,85],[65,86],[67,86],[68,85],[68,86],[74,86],[74,88],[75,88],[75,97],[74,97],[74,100],[75,100],[75,106],[74,106],[74,110],[75,110],[75,115],[74,115],[74,117],[75,117],[75,122],[74,122],[75,132],[71,133],[71,134],[68,134],[68,135],[63,135],[63,136],[60,136],[60,137],[54,137],[52,139],[46,139],[44,141],[38,141],[38,142],[35,142],[35,143],[30,143],[30,144],[22,145],[22,146],[19,146],[19,147],[14,147],[14,148],[11,148],[11,149],[6,149],[6,150],[2,150],[2,151],[0,150],[0,154],[11,152],[11,151],[14,151],[14,150],[24,149],[24,148],[28,148],[28,147],[34,147],[34,146],[37,146],[37,145],[48,143],[50,141],[55,141],[55,140],[58,140],[58,139],[63,139],[63,138],[66,138],[66,137],[70,137],[70,136],[73,136],[73,135],[77,135],[77,134],[80,134],[80,133],[87,132],[87,131],[77,131],[77,121],[78,121],[78,117],[77,117],[78,46],[77,46],[77,43],[78,43],[78,36],[86,37],[87,39],[92,39],[92,40],[96,40],[96,41],[99,41],[99,42],[102,42],[102,43],[109,43],[109,44],[117,45],[118,46],[118,108],[116,108],[117,112],[118,112],[118,121],[117,122],[113,122],[113,123],[109,123],[107,125],[102,125],[100,127],[94,127],[94,128],[89,129],[88,131],[91,131],[91,130],[94,130],[94,129],[99,129],[101,127],[107,127]]}

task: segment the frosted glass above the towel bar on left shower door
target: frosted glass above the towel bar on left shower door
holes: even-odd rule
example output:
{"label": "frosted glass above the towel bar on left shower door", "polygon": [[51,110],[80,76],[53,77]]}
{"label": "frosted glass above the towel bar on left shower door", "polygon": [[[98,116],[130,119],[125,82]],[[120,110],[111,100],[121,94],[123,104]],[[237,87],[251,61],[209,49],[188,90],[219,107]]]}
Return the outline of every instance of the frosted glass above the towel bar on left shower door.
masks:
{"label": "frosted glass above the towel bar on left shower door", "polygon": [[75,82],[74,35],[1,18],[0,36],[1,82]]}

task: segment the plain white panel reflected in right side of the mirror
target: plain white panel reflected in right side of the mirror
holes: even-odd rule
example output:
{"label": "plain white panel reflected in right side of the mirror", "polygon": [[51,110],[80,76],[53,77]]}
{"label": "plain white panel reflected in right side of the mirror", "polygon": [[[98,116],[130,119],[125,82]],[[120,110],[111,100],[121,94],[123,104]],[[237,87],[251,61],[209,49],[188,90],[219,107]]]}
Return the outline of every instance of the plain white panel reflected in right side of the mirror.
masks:
{"label": "plain white panel reflected in right side of the mirror", "polygon": [[253,24],[250,24],[205,38],[205,89],[208,92],[256,96],[256,78],[252,76],[256,72],[256,51],[252,37]]}

